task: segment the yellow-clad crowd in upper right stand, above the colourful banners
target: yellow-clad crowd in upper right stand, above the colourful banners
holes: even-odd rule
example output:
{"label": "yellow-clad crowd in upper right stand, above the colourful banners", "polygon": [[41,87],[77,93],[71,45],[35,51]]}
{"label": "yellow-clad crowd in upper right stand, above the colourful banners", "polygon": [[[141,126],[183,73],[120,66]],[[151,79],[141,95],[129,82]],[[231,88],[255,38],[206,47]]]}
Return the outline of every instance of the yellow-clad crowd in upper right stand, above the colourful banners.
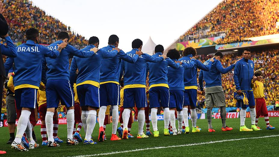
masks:
{"label": "yellow-clad crowd in upper right stand, above the colourful banners", "polygon": [[180,37],[180,41],[222,36],[218,44],[277,34],[278,0],[224,0]]}

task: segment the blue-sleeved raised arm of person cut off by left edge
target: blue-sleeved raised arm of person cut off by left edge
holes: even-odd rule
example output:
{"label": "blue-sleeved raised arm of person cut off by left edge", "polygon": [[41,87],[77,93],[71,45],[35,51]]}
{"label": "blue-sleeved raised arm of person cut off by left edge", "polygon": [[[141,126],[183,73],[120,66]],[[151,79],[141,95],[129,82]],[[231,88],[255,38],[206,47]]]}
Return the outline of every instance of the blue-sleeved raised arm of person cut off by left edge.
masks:
{"label": "blue-sleeved raised arm of person cut off by left edge", "polygon": [[0,44],[1,53],[8,57],[17,57],[16,47],[14,46],[14,42],[12,41],[11,37],[9,37],[8,34],[6,34],[4,37],[7,46],[5,46],[4,44]]}

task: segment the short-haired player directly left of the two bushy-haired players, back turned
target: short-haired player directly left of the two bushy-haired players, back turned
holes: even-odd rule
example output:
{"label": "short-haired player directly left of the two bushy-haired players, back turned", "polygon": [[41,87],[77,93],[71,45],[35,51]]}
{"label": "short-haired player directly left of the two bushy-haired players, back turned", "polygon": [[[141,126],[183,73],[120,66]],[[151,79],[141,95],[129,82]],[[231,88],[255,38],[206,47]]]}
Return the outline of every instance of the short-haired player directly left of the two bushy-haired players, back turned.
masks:
{"label": "short-haired player directly left of the two bushy-haired players, back turned", "polygon": [[[162,45],[155,47],[155,54],[152,57],[161,56],[164,52]],[[164,110],[164,135],[169,135],[168,126],[170,123],[169,109],[169,86],[167,84],[167,67],[178,69],[181,62],[166,58],[157,63],[146,63],[146,76],[149,72],[149,108],[151,108],[151,122],[153,127],[153,136],[159,137],[157,128],[157,110],[162,107]]]}

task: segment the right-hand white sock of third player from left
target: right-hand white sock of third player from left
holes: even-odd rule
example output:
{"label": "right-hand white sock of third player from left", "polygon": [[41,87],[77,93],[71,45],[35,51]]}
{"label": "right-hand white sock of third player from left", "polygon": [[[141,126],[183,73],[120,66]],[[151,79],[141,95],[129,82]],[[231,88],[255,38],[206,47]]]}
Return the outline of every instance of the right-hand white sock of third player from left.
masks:
{"label": "right-hand white sock of third player from left", "polygon": [[87,141],[91,140],[91,135],[92,135],[92,132],[93,132],[94,127],[96,125],[96,116],[97,116],[97,111],[96,110],[88,111],[88,117],[87,117],[87,120],[86,120],[87,130],[86,130],[86,135],[85,135],[85,139]]}

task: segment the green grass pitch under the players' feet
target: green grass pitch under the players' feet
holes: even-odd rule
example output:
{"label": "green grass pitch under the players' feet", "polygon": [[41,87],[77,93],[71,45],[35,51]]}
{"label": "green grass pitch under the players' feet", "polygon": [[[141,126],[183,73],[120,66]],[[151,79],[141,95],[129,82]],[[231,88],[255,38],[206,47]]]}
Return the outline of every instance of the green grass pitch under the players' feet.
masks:
{"label": "green grass pitch under the players' feet", "polygon": [[[138,123],[134,122],[132,125],[131,134],[135,136],[128,140],[110,141],[111,127],[107,125],[106,137],[108,140],[95,145],[83,145],[79,143],[77,146],[67,146],[64,143],[57,148],[48,148],[40,146],[37,149],[29,150],[29,152],[19,152],[11,149],[11,146],[6,144],[9,139],[8,128],[1,128],[0,131],[0,150],[7,151],[7,154],[1,156],[78,156],[85,157],[92,155],[100,155],[107,153],[106,156],[279,156],[278,144],[279,136],[265,137],[272,135],[279,135],[279,117],[271,117],[270,124],[277,127],[275,130],[269,131],[265,129],[265,121],[263,118],[259,119],[259,126],[262,131],[240,132],[239,119],[227,119],[227,125],[234,129],[229,132],[221,131],[221,119],[212,119],[214,133],[207,131],[207,120],[198,119],[197,125],[202,128],[200,133],[179,134],[176,136],[164,136],[163,127],[164,121],[158,121],[158,128],[160,137],[149,136],[145,139],[137,139]],[[191,125],[191,121],[189,120]],[[246,125],[250,128],[250,118],[246,119]],[[177,121],[176,121],[177,127]],[[93,140],[97,141],[99,124],[97,123],[93,132]],[[152,125],[150,126],[152,130]],[[144,127],[145,130],[145,127]],[[191,127],[190,127],[191,130]],[[38,139],[38,144],[41,145],[40,126],[35,126],[35,134]],[[60,125],[58,129],[58,136],[65,140],[67,137],[66,125]],[[84,137],[84,130],[81,130],[81,136]],[[264,138],[253,138],[264,137]],[[247,138],[243,140],[242,138]],[[252,138],[252,139],[251,139]],[[241,140],[235,140],[241,139]],[[220,141],[230,140],[230,141]],[[213,143],[209,143],[213,141]],[[215,141],[215,142],[214,142]],[[218,141],[218,142],[216,142]],[[204,143],[203,143],[204,142]],[[199,143],[196,145],[190,145]],[[179,146],[180,145],[180,146]],[[186,145],[186,146],[181,146]],[[172,147],[168,147],[172,146]],[[154,147],[161,147],[154,149]],[[168,148],[165,148],[168,147]],[[134,149],[146,149],[140,151],[130,151]],[[129,152],[121,152],[121,151]]]}

